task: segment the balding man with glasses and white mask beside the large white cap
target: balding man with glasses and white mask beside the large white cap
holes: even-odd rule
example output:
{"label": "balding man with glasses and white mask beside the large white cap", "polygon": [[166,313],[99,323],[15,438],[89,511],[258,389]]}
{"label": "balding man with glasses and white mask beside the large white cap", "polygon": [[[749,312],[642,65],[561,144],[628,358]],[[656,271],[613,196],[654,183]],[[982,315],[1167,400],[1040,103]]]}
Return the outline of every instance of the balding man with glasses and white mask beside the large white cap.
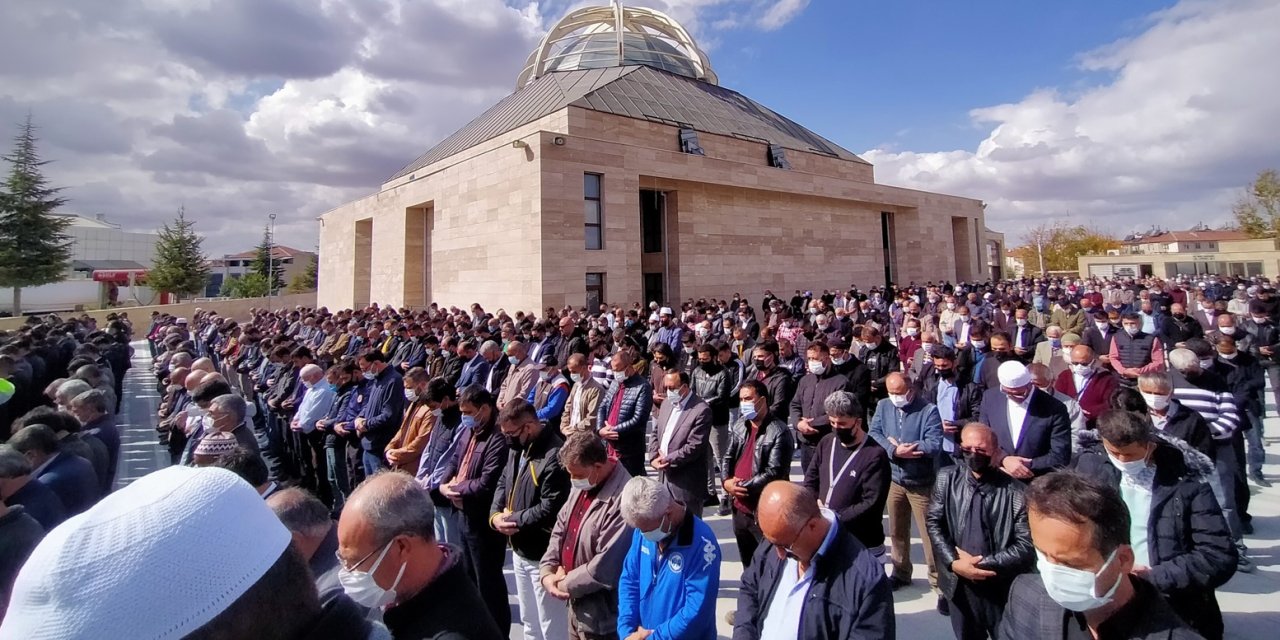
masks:
{"label": "balding man with glasses and white mask beside the large white cap", "polygon": [[376,474],[356,488],[338,521],[343,590],[381,611],[397,639],[507,637],[467,575],[465,552],[436,541],[433,511],[407,474]]}

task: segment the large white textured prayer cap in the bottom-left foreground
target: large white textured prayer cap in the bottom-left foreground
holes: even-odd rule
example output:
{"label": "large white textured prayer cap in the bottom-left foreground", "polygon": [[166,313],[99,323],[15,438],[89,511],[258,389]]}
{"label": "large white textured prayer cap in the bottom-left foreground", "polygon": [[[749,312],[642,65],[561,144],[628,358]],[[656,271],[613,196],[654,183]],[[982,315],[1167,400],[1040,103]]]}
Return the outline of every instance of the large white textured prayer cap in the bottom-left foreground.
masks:
{"label": "large white textured prayer cap in the bottom-left foreground", "polygon": [[18,573],[0,637],[183,637],[243,595],[291,540],[236,474],[163,468],[45,536]]}

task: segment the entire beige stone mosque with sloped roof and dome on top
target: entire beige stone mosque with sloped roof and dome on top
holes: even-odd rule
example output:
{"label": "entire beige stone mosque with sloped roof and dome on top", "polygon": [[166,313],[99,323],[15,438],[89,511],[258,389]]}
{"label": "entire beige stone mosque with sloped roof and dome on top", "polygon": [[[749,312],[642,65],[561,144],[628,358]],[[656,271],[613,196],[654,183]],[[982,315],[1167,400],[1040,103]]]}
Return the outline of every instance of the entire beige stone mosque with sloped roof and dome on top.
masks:
{"label": "entire beige stone mosque with sloped roof and dome on top", "polygon": [[673,19],[621,4],[566,15],[515,93],[320,221],[329,308],[992,275],[980,201],[877,184],[865,160],[719,86]]}

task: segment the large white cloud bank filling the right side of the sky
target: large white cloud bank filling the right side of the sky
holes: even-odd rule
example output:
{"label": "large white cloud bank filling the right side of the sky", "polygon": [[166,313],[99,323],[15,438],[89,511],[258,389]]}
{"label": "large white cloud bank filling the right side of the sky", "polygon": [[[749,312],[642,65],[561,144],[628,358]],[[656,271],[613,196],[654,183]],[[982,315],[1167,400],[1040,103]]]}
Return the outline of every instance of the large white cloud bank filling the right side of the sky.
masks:
{"label": "large white cloud bank filling the right side of the sky", "polygon": [[1240,187],[1280,165],[1280,4],[1190,0],[1089,51],[1084,91],[1043,88],[970,111],[975,150],[876,148],[879,182],[978,197],[1010,242],[1043,219],[1116,232],[1224,223]]}

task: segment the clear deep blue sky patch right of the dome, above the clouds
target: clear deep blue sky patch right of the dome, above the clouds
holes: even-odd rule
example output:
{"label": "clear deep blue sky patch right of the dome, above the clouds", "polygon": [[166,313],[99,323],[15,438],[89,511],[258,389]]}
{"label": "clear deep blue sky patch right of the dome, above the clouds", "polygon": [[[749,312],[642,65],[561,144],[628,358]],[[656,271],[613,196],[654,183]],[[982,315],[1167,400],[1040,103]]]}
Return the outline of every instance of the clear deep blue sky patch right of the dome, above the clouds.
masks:
{"label": "clear deep blue sky patch right of the dome, above the clouds", "polygon": [[970,148],[987,134],[970,109],[1105,79],[1079,55],[1172,4],[818,0],[781,29],[726,33],[709,55],[722,84],[855,152]]}

